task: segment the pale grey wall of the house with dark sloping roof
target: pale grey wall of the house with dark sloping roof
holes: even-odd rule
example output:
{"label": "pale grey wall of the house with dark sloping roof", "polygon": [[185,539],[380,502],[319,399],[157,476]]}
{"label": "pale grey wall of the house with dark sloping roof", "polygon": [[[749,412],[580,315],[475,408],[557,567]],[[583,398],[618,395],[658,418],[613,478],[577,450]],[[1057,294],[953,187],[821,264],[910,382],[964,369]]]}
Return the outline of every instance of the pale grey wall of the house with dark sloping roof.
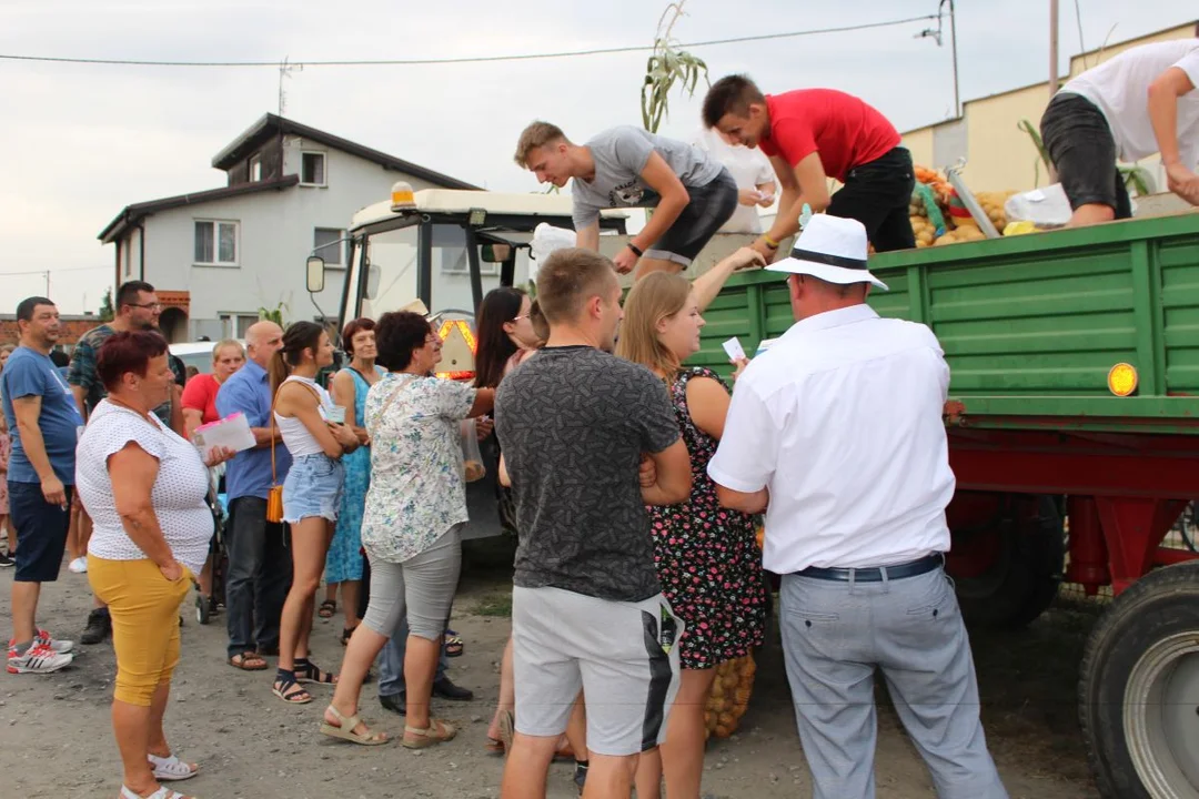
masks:
{"label": "pale grey wall of the house with dark sloping roof", "polygon": [[[339,311],[345,271],[344,246],[341,266],[330,265],[325,290],[315,304],[305,285],[305,261],[317,228],[344,231],[350,217],[388,195],[392,183],[406,180],[415,189],[430,184],[403,172],[325,146],[289,138],[282,150],[284,174],[299,174],[300,153],[326,153],[326,184],[295,186],[240,198],[162,211],[144,220],[146,229],[145,279],[164,291],[188,291],[188,338],[219,338],[227,333],[222,315],[254,315],[259,308],[287,305],[284,319],[318,319],[318,305],[331,319]],[[195,222],[239,223],[237,266],[197,266]],[[134,253],[137,250],[134,249]],[[331,261],[329,252],[320,253]],[[134,268],[137,276],[137,268]]]}

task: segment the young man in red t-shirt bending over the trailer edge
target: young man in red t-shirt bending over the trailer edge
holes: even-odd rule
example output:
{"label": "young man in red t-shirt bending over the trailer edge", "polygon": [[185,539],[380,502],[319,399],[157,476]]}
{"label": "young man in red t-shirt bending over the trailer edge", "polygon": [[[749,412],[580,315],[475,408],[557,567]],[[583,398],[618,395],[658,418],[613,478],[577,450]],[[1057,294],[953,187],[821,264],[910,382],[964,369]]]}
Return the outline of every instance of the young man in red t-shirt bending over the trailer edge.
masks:
{"label": "young man in red t-shirt bending over the trailer edge", "polygon": [[[857,219],[874,250],[916,246],[908,204],[916,178],[911,153],[882,114],[857,97],[832,89],[763,95],[745,75],[721,78],[704,98],[704,123],[733,141],[761,147],[782,186],[778,214],[753,248],[766,260],[813,211]],[[829,178],[843,186],[829,194]]]}

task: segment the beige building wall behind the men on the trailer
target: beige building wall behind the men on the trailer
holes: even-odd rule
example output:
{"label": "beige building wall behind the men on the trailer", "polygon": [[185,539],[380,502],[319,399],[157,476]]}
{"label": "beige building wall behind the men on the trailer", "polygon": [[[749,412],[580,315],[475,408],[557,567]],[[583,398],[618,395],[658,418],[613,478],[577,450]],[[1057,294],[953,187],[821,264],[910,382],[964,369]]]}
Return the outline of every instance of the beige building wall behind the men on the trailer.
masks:
{"label": "beige building wall behind the men on the trailer", "polygon": [[[1158,31],[1149,36],[1110,44],[1071,59],[1070,77],[1081,74],[1125,50],[1179,38],[1194,37],[1193,23]],[[1062,84],[1068,78],[1062,80]],[[1036,147],[1029,135],[1018,126],[1022,120],[1029,120],[1036,129],[1041,127],[1041,116],[1049,104],[1049,83],[1013,89],[990,97],[968,101],[963,105],[965,122],[965,156],[968,165],[963,172],[968,184],[976,192],[1028,190],[1048,183],[1044,167],[1040,163]],[[960,125],[958,120],[930,125],[903,134],[904,146],[912,152],[912,159],[924,167],[938,169],[952,165],[956,152],[940,152],[934,145],[938,134],[951,126]],[[1164,171],[1157,156],[1146,158],[1140,165],[1149,169],[1157,180],[1159,190],[1164,189]]]}

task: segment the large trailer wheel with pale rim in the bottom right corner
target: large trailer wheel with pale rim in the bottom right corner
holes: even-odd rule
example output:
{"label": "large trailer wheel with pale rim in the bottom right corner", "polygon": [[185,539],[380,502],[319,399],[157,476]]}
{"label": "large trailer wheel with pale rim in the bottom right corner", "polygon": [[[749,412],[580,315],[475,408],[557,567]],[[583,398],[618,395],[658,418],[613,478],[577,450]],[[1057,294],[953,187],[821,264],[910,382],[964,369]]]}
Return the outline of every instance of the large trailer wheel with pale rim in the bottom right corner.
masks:
{"label": "large trailer wheel with pale rim in the bottom right corner", "polygon": [[1091,631],[1078,688],[1107,799],[1199,797],[1199,562],[1153,571]]}

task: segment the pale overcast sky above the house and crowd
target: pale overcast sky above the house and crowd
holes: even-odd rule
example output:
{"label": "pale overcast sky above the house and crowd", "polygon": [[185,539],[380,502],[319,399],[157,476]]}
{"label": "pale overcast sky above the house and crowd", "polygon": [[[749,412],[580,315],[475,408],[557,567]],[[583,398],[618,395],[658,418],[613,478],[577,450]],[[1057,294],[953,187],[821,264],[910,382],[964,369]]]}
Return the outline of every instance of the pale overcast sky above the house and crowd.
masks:
{"label": "pale overcast sky above the house and crowd", "polygon": [[[1086,48],[1194,19],[1179,0],[1078,0]],[[348,0],[4,0],[0,54],[138,60],[417,59],[652,42],[662,0],[394,2]],[[958,0],[963,99],[1043,80],[1049,0]],[[1188,6],[1191,6],[1188,8]],[[938,0],[687,0],[682,42],[886,22]],[[753,10],[749,13],[747,10]],[[1061,63],[1079,52],[1061,0]],[[697,48],[712,80],[748,72],[766,91],[830,86],[899,129],[952,114],[945,47],[929,23]],[[930,23],[934,24],[935,23]],[[307,67],[285,81],[285,115],[494,190],[536,190],[512,163],[542,117],[574,139],[640,123],[644,53],[487,65]],[[212,156],[278,110],[277,68],[167,68],[0,60],[0,311],[46,287],[65,313],[96,310],[113,248],[97,234],[122,207],[224,184]],[[673,97],[659,133],[689,138],[699,102]],[[375,198],[364,200],[373,201]],[[347,219],[347,222],[349,222]],[[176,287],[176,286],[163,286]]]}

